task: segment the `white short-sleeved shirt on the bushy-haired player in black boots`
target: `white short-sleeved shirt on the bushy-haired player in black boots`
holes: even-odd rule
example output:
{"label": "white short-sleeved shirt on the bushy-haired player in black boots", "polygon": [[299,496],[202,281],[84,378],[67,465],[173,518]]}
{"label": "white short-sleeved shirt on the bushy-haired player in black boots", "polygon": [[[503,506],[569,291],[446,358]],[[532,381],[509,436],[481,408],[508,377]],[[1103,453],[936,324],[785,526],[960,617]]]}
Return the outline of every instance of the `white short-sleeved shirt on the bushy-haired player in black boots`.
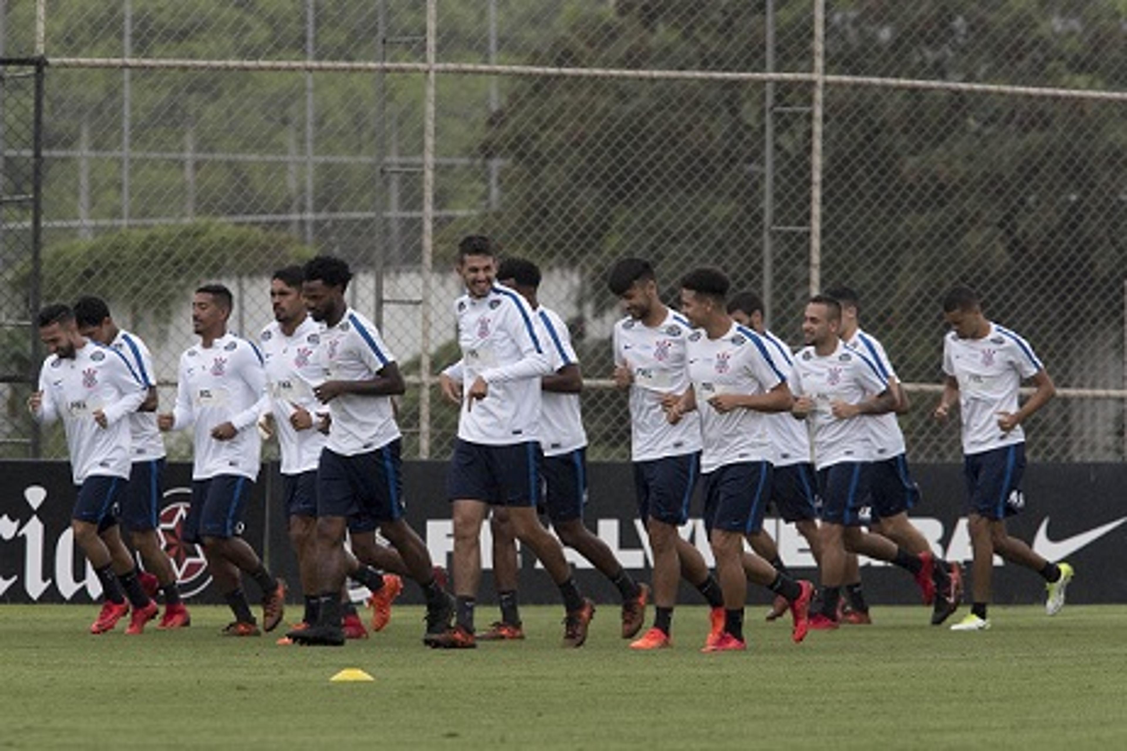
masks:
{"label": "white short-sleeved shirt on the bushy-haired player in black boots", "polygon": [[[350,307],[320,338],[317,356],[323,381],[372,381],[396,361],[375,324]],[[341,456],[367,454],[400,437],[389,395],[341,394],[329,402],[329,417],[325,445]]]}

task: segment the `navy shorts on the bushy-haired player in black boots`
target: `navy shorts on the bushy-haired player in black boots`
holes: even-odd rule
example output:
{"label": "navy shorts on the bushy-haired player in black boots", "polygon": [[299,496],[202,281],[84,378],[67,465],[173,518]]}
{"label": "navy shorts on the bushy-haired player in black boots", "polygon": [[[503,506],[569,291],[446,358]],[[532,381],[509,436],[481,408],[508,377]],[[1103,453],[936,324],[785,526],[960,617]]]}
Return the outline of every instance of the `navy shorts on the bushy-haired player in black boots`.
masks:
{"label": "navy shorts on the bushy-haired player in black boots", "polygon": [[400,439],[373,452],[344,456],[321,450],[317,467],[317,516],[348,519],[348,529],[371,531],[403,516]]}

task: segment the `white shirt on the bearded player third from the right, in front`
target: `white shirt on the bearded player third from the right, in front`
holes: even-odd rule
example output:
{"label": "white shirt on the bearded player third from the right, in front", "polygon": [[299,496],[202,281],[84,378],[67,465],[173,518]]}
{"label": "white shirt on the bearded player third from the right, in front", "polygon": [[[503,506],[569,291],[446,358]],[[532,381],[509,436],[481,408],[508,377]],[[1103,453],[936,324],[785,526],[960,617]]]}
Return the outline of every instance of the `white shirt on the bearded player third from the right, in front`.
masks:
{"label": "white shirt on the bearded player third from the right, in front", "polygon": [[814,347],[806,347],[795,358],[796,396],[810,396],[814,410],[808,420],[814,424],[814,466],[818,470],[842,462],[871,462],[872,436],[868,421],[870,414],[858,414],[838,420],[831,412],[831,402],[857,404],[870,394],[888,388],[877,365],[864,354],[845,346],[837,346],[822,357]]}

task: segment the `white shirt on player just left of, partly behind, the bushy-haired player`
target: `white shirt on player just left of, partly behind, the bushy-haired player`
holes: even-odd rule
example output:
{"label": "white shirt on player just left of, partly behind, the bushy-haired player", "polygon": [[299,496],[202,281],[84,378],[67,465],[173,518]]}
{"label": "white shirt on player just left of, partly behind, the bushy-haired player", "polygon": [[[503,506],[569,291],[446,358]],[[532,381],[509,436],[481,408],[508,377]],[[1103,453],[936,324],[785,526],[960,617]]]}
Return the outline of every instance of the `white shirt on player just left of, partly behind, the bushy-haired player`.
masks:
{"label": "white shirt on player just left of, partly behind, the bushy-haired player", "polygon": [[[296,475],[317,470],[325,448],[325,433],[317,429],[319,415],[329,408],[313,396],[313,386],[325,379],[325,368],[317,360],[325,327],[310,316],[286,336],[277,321],[272,321],[258,336],[258,346],[266,367],[269,391],[267,412],[274,414],[274,431],[282,454],[282,474]],[[313,417],[313,427],[295,430],[290,424],[294,405]]]}

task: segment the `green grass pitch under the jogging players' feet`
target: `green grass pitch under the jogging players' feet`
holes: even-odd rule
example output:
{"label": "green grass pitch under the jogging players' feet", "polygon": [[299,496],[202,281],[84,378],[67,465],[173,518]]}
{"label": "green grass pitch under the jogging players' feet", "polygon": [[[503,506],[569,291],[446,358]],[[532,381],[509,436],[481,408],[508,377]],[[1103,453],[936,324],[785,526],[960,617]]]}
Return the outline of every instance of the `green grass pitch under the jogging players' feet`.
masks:
{"label": "green grass pitch under the jogging players' feet", "polygon": [[[996,607],[994,628],[969,634],[878,607],[875,625],[801,645],[761,610],[746,653],[701,654],[702,607],[678,608],[675,649],[635,653],[610,605],[582,650],[558,646],[557,608],[526,607],[525,642],[459,652],[424,647],[414,607],[366,642],[314,649],[222,638],[221,608],[126,637],[87,634],[92,606],[0,606],[0,748],[1127,744],[1127,607]],[[375,680],[329,682],[344,668]]]}

